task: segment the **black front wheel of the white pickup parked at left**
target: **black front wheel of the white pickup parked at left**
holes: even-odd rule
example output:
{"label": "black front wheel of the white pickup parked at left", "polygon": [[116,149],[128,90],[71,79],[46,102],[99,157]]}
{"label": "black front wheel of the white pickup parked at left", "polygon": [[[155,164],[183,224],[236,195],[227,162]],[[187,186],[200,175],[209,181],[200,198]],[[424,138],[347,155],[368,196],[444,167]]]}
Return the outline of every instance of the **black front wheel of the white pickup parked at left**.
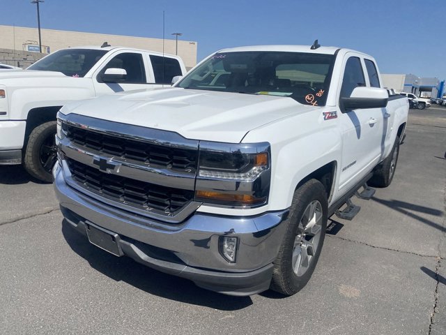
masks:
{"label": "black front wheel of the white pickup parked at left", "polygon": [[56,121],[49,121],[33,129],[29,135],[24,166],[31,176],[51,183],[52,168],[56,163]]}

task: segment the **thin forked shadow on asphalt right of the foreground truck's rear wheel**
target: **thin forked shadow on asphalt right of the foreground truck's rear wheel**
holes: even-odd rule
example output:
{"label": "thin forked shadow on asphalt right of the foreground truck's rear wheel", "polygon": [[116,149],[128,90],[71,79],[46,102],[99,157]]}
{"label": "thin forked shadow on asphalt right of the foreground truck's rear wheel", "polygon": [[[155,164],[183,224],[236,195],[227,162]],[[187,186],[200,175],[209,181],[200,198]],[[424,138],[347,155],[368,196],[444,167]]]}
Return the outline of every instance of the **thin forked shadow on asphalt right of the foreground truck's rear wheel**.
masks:
{"label": "thin forked shadow on asphalt right of the foreground truck's rear wheel", "polygon": [[430,225],[432,228],[440,230],[440,232],[446,232],[446,228],[442,225],[439,225],[438,223],[432,222],[426,218],[422,218],[421,216],[412,213],[412,211],[417,211],[419,213],[429,214],[433,216],[442,216],[443,211],[431,207],[420,206],[419,204],[411,204],[410,202],[400,200],[382,200],[378,198],[372,198],[372,200],[390,207],[395,211],[399,211],[400,213],[407,215],[410,218],[414,218],[417,221],[425,223],[426,225]]}

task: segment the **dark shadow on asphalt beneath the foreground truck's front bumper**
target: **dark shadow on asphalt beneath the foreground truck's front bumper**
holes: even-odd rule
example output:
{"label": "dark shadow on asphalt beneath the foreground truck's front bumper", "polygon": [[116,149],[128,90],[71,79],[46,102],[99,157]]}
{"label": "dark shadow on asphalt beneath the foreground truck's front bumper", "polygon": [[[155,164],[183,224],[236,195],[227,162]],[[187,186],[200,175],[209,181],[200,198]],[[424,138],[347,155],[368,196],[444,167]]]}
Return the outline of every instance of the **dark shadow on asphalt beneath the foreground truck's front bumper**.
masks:
{"label": "dark shadow on asphalt beneath the foreground truck's front bumper", "polygon": [[203,290],[186,279],[163,274],[128,257],[116,257],[90,244],[88,239],[63,221],[62,234],[72,251],[93,269],[114,281],[123,281],[150,295],[222,311],[237,311],[252,305],[250,297],[231,297]]}

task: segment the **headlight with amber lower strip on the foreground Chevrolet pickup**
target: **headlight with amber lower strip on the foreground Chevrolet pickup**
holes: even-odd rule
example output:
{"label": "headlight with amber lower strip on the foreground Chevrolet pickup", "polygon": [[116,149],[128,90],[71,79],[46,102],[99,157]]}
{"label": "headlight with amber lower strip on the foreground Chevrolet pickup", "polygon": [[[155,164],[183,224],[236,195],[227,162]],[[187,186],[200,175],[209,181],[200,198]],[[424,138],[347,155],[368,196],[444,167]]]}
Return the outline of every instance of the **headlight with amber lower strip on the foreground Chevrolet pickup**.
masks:
{"label": "headlight with amber lower strip on the foreground Chevrolet pickup", "polygon": [[200,142],[195,200],[252,208],[268,202],[270,144]]}

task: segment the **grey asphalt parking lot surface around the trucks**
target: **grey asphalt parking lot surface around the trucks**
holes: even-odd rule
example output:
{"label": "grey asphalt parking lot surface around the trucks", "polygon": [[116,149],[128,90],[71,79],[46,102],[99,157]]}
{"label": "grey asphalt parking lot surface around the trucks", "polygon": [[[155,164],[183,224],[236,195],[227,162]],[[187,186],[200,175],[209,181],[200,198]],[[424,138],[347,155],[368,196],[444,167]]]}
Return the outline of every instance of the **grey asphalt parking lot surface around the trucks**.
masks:
{"label": "grey asphalt parking lot surface around the trucks", "polygon": [[325,239],[293,297],[228,297],[62,228],[52,185],[0,167],[1,334],[446,334],[446,108],[410,110],[390,188]]}

